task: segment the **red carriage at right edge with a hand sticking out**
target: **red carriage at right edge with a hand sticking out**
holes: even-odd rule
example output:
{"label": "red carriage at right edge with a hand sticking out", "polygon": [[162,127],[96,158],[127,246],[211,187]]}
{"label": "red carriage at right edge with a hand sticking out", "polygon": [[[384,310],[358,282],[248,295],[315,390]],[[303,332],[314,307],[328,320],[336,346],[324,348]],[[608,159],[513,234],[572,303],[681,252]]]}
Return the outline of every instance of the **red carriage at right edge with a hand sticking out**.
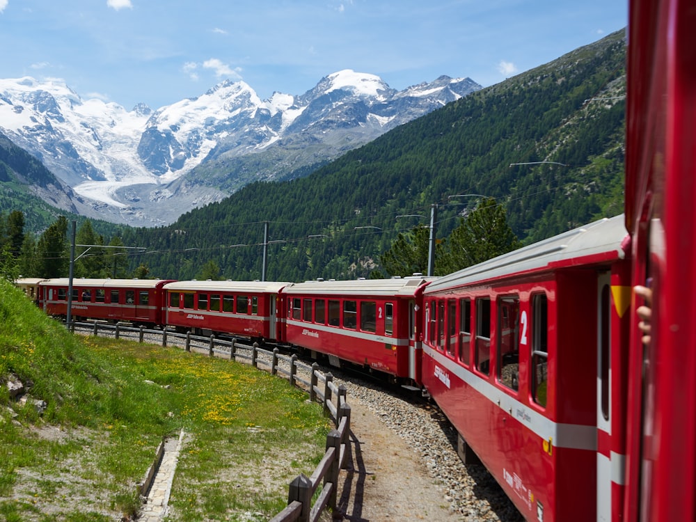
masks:
{"label": "red carriage at right edge with a hand sticking out", "polygon": [[626,228],[651,331],[632,313],[628,521],[696,520],[695,26],[693,1],[629,5]]}

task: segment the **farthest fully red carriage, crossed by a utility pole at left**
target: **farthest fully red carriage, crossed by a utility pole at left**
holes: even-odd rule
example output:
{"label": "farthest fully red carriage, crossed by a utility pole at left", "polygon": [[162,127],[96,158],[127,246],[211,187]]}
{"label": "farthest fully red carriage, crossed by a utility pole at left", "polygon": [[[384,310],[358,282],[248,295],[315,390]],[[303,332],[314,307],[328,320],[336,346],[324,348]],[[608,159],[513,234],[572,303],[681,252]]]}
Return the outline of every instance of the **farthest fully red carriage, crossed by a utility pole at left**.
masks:
{"label": "farthest fully red carriage, crossed by a utility pole at left", "polygon": [[[147,326],[164,324],[164,290],[168,279],[72,280],[71,315],[75,320],[106,319]],[[68,278],[39,283],[43,309],[49,315],[68,313]]]}

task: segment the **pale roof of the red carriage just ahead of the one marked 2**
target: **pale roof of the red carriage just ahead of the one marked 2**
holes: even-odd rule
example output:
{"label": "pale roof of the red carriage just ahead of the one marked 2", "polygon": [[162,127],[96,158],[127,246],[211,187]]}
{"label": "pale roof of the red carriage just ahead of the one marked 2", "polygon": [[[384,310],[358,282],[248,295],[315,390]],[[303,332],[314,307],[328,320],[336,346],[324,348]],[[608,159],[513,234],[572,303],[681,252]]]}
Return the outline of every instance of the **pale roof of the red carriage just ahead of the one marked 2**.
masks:
{"label": "pale roof of the red carriage just ahead of the one marked 2", "polygon": [[297,283],[285,294],[311,295],[384,295],[414,296],[418,290],[435,278],[408,277],[395,279],[315,280]]}

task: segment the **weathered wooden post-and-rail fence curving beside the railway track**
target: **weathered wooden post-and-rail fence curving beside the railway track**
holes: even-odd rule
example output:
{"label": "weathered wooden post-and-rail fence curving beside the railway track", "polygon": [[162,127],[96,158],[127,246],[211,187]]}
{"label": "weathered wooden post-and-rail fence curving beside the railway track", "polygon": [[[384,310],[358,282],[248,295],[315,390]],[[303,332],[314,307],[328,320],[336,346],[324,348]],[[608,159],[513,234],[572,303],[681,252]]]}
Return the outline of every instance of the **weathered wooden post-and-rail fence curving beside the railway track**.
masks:
{"label": "weathered wooden post-and-rail fence curving beside the railway track", "polygon": [[[280,374],[288,379],[292,386],[308,391],[310,400],[321,402],[324,413],[331,417],[335,429],[326,436],[326,452],[322,461],[310,477],[298,475],[290,482],[290,492],[287,496],[287,507],[271,519],[271,522],[316,522],[324,509],[335,509],[338,500],[338,475],[344,465],[347,455],[348,436],[350,431],[351,409],[346,401],[345,386],[336,386],[331,373],[326,375],[319,372],[319,365],[308,365],[298,360],[297,356],[280,354],[278,348],[272,351],[262,349],[257,343],[252,345],[236,338],[231,340],[219,339],[214,335],[202,337],[191,333],[176,333],[171,330],[150,330],[143,326],[134,328],[122,324],[106,324],[88,322],[70,324],[70,331],[76,328],[87,330],[93,335],[113,332],[118,338],[135,338],[143,342],[145,334],[161,335],[161,345],[169,344],[184,346],[186,351],[206,353],[213,357],[229,358],[230,361],[244,361],[253,367],[268,370],[273,375]],[[308,377],[306,377],[308,376]],[[322,491],[315,493],[322,485]]]}

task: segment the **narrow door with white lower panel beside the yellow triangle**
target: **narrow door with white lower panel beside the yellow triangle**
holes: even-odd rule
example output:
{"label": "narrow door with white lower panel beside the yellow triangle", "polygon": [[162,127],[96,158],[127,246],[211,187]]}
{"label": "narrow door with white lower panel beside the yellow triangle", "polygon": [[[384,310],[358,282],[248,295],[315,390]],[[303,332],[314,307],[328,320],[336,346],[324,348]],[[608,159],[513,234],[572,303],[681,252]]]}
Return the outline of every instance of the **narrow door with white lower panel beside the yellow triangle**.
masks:
{"label": "narrow door with white lower panel beside the yellow triangle", "polygon": [[[597,521],[612,520],[612,470],[619,466],[619,455],[612,452],[611,386],[611,277],[608,272],[597,280]],[[623,464],[623,463],[621,463]]]}

